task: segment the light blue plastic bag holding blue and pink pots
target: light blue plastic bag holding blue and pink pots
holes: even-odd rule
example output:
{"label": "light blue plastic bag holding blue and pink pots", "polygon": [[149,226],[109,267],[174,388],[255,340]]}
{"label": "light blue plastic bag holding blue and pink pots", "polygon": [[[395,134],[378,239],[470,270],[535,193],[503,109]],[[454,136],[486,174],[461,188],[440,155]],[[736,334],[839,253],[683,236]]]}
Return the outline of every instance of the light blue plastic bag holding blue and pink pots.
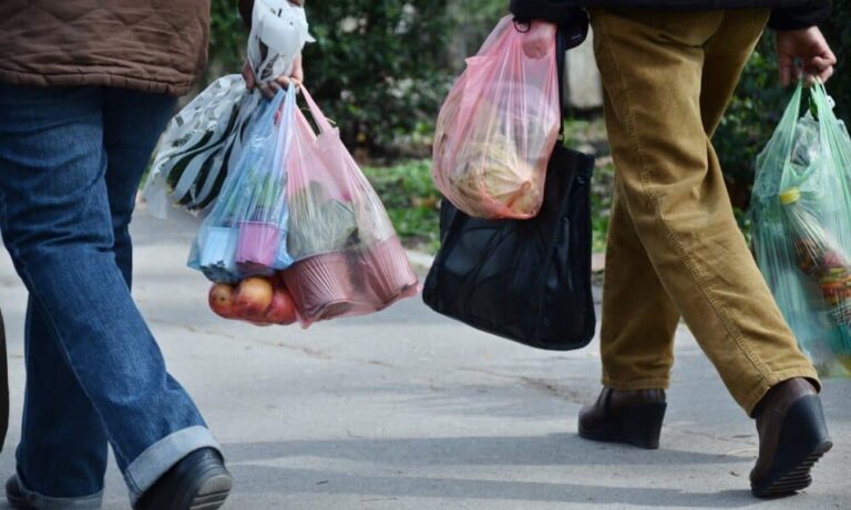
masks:
{"label": "light blue plastic bag holding blue and pink pots", "polygon": [[189,267],[209,280],[234,283],[293,263],[287,252],[287,154],[295,85],[264,102],[222,194],[198,230]]}

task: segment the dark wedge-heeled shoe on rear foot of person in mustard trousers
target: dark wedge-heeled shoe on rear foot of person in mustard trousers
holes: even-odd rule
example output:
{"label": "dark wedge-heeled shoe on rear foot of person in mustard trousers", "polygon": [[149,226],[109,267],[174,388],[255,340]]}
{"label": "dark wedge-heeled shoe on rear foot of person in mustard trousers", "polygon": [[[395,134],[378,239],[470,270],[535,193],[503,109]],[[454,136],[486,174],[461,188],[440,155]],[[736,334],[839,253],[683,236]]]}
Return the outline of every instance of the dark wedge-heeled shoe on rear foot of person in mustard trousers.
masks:
{"label": "dark wedge-heeled shoe on rear foot of person in mustard trousers", "polygon": [[580,436],[656,449],[666,407],[664,389],[622,392],[604,387],[596,404],[580,412]]}

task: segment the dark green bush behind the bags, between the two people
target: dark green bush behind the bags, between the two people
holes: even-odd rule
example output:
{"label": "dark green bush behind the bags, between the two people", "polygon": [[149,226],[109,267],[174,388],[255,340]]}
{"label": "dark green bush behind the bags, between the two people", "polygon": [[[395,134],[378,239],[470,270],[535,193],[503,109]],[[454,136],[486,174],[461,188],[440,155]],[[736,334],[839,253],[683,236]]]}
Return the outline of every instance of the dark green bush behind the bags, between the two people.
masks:
{"label": "dark green bush behind the bags, between the two people", "polygon": [[[372,156],[424,155],[452,77],[506,0],[308,0],[317,42],[305,81],[346,145]],[[247,30],[233,0],[212,1],[207,81],[238,72]]]}

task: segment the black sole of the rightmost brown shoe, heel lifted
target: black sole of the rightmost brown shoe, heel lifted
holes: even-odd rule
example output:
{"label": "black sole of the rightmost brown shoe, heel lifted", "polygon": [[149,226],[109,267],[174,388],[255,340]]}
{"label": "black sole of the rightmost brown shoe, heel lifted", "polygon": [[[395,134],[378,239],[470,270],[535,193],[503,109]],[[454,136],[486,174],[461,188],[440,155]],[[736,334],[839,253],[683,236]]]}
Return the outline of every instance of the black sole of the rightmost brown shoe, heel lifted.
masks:
{"label": "black sole of the rightmost brown shoe, heel lifted", "polygon": [[833,447],[817,396],[803,397],[789,408],[778,445],[766,480],[751,482],[750,491],[757,498],[790,496],[812,483],[810,470]]}

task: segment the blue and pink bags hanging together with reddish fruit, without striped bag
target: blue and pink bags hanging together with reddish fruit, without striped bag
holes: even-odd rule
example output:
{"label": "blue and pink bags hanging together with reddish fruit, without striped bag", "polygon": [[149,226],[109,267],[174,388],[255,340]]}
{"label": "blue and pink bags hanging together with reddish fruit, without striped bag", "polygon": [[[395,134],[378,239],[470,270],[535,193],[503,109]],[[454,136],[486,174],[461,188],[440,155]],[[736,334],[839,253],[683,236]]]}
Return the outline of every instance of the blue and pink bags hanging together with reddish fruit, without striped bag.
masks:
{"label": "blue and pink bags hanging together with reddish fruit, without striped bag", "polygon": [[189,256],[227,319],[307,327],[417,293],[381,201],[300,91],[319,133],[296,107],[295,84],[265,102]]}

